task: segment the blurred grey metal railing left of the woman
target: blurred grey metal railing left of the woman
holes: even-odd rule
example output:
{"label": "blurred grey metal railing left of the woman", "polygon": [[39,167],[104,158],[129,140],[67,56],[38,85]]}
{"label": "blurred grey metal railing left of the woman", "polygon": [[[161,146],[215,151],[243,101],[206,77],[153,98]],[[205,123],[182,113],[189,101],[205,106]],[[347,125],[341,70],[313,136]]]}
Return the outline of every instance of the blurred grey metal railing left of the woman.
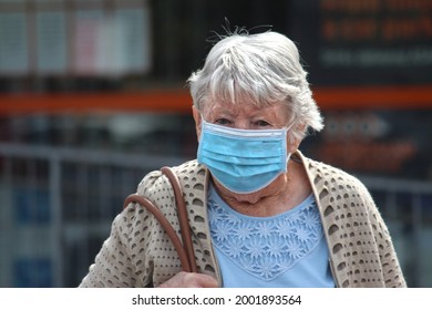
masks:
{"label": "blurred grey metal railing left of the woman", "polygon": [[[37,266],[38,264],[31,264],[32,257],[48,259],[51,268],[50,279],[35,279],[35,285],[73,285],[65,275],[69,247],[80,247],[81,244],[85,248],[89,236],[107,237],[113,214],[121,211],[122,197],[136,189],[141,177],[151,169],[179,162],[183,162],[182,158],[169,156],[0,143],[0,287],[25,286],[22,281],[17,283],[16,273],[20,278],[22,272],[27,272],[25,269]],[[68,165],[72,165],[72,177],[71,173],[66,175]],[[116,169],[115,175],[111,173],[113,168]],[[93,183],[92,178],[96,178],[97,183]],[[109,186],[113,182],[121,183],[121,186]],[[38,213],[48,206],[34,206],[38,194],[32,195],[31,190],[25,193],[22,188],[35,188],[47,196],[48,221],[37,219]],[[68,195],[69,188],[73,190]],[[119,204],[110,208],[111,198],[115,194],[119,196]],[[32,206],[17,206],[19,196]],[[75,205],[68,202],[68,197],[73,196],[79,196]],[[94,203],[86,196],[100,199],[94,199],[97,200]],[[25,208],[31,208],[30,213],[33,213],[34,218],[27,218],[22,223],[19,214],[25,211],[22,210]],[[74,210],[71,211],[70,208]],[[93,216],[91,219],[89,214],[96,214],[99,218]],[[82,268],[88,268],[90,262],[82,261]],[[68,272],[71,275],[75,270]],[[38,272],[35,273],[33,277],[38,277]],[[23,276],[24,280],[25,277]]]}

